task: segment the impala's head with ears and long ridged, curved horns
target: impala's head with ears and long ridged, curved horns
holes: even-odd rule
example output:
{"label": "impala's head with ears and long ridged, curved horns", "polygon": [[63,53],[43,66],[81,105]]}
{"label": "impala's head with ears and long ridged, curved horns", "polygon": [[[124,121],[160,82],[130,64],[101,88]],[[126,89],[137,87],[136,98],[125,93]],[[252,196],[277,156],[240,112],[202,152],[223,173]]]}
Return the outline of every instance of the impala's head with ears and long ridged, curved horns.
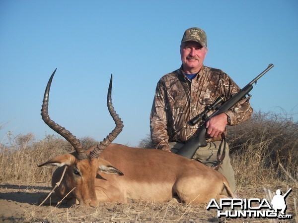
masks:
{"label": "impala's head with ears and long ridged, curved horns", "polygon": [[[51,75],[45,90],[41,116],[44,122],[51,129],[63,136],[68,142],[72,144],[75,152],[55,157],[48,162],[39,165],[38,167],[67,166],[68,168],[63,179],[63,184],[65,185],[66,190],[72,190],[74,188],[72,193],[81,205],[96,207],[98,205],[94,186],[96,176],[100,172],[123,175],[123,173],[113,167],[111,163],[99,157],[101,152],[112,143],[112,141],[119,135],[123,128],[123,122],[121,121],[121,118],[118,116],[112,105],[112,76],[108,89],[107,106],[111,116],[115,121],[116,126],[114,130],[105,139],[103,139],[103,141],[100,142],[99,145],[94,147],[94,149],[89,149],[87,151],[82,147],[82,144],[70,131],[66,130],[64,127],[51,120],[48,114],[49,93],[55,72],[56,69]],[[52,184],[53,183],[56,182],[52,182]]]}

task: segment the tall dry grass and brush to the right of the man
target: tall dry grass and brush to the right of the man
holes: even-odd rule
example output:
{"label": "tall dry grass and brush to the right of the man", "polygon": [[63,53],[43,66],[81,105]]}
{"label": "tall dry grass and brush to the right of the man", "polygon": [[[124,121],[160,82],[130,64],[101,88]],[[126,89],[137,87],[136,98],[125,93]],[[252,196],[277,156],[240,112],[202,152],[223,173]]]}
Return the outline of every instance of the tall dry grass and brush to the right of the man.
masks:
{"label": "tall dry grass and brush to the right of the man", "polygon": [[298,124],[291,118],[259,112],[230,127],[228,142],[239,188],[293,182],[291,176],[298,178]]}

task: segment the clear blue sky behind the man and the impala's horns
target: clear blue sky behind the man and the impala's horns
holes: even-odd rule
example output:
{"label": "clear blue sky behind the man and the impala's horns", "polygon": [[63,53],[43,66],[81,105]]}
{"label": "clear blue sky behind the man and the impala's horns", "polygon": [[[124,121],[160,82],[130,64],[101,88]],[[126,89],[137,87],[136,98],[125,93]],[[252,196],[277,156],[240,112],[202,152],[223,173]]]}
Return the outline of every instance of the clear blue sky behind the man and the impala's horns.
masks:
{"label": "clear blue sky behind the man and the impala's horns", "polygon": [[185,29],[207,33],[205,65],[224,70],[241,88],[254,85],[255,111],[286,112],[298,121],[297,0],[0,0],[0,141],[53,134],[41,119],[46,83],[57,67],[49,113],[77,137],[102,140],[124,121],[116,143],[137,146],[149,134],[159,78],[181,65]]}

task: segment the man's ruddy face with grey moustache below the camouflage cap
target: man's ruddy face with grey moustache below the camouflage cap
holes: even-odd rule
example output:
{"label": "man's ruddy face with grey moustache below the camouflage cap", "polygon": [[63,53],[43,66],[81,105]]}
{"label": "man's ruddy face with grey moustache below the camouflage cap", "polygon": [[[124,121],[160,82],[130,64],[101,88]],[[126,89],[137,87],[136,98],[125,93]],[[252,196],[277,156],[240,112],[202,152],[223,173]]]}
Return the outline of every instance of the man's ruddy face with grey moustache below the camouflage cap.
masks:
{"label": "man's ruddy face with grey moustache below the camouflage cap", "polygon": [[203,66],[208,49],[195,41],[187,41],[180,46],[180,55],[185,73],[197,73]]}

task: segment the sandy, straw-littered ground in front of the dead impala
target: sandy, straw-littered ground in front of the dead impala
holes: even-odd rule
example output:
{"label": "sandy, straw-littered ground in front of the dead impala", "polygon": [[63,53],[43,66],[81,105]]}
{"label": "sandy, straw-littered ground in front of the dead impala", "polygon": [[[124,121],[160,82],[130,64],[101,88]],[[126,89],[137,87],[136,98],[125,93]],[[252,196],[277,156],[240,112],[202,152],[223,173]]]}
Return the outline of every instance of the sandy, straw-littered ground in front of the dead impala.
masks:
{"label": "sandy, straw-littered ground in front of the dead impala", "polygon": [[[294,198],[297,198],[297,187],[293,189],[287,198],[286,213],[293,218],[284,222],[296,222]],[[270,219],[218,219],[216,210],[206,210],[207,204],[101,203],[97,208],[86,208],[62,203],[57,207],[38,207],[39,197],[50,191],[50,184],[45,183],[0,183],[0,222],[274,222]],[[263,188],[246,188],[237,195],[241,198],[265,198]]]}

